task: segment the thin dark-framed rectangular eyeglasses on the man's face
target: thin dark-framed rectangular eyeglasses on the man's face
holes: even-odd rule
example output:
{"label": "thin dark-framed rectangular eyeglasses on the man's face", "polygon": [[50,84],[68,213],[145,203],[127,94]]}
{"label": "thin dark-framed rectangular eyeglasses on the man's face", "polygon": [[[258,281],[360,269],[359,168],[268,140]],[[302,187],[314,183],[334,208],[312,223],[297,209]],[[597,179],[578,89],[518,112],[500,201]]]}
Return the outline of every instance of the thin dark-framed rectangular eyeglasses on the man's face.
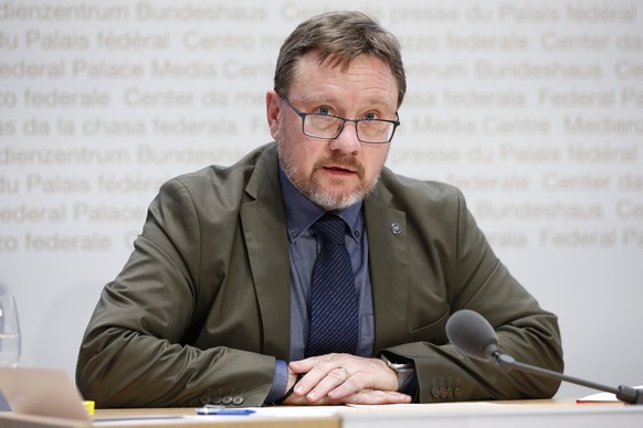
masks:
{"label": "thin dark-framed rectangular eyeglasses on the man's face", "polygon": [[[308,137],[333,140],[341,133],[347,121],[355,124],[357,139],[370,145],[383,145],[390,142],[400,126],[399,120],[386,119],[346,119],[339,116],[323,115],[320,113],[303,113],[291,104],[288,98],[281,97],[302,118],[302,131]],[[396,118],[399,119],[396,113]]]}

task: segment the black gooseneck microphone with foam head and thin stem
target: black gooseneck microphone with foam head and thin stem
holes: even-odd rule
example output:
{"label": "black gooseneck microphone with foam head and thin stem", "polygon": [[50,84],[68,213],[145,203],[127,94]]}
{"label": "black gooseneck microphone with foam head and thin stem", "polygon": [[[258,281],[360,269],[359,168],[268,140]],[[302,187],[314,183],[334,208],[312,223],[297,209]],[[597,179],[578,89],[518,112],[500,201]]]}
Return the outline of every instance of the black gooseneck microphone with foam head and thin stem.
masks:
{"label": "black gooseneck microphone with foam head and thin stem", "polygon": [[449,321],[446,321],[446,336],[463,354],[482,360],[493,357],[496,361],[496,364],[504,370],[512,371],[512,368],[516,368],[521,372],[570,382],[589,388],[612,393],[621,402],[643,404],[643,389],[636,389],[623,385],[613,388],[611,386],[579,379],[578,377],[568,376],[547,368],[519,363],[514,360],[513,356],[500,353],[498,338],[494,328],[483,315],[475,311],[462,309],[451,315]]}

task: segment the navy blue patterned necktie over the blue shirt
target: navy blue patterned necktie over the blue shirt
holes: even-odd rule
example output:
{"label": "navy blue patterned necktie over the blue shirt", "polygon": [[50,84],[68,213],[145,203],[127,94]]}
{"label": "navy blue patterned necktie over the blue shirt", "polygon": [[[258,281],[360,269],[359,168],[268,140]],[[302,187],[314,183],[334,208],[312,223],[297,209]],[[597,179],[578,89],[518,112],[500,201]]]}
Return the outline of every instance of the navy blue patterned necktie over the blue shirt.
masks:
{"label": "navy blue patterned necktie over the blue shirt", "polygon": [[322,249],[313,268],[306,356],[357,354],[359,313],[355,275],[346,249],[346,225],[337,215],[326,213],[313,227],[322,238]]}

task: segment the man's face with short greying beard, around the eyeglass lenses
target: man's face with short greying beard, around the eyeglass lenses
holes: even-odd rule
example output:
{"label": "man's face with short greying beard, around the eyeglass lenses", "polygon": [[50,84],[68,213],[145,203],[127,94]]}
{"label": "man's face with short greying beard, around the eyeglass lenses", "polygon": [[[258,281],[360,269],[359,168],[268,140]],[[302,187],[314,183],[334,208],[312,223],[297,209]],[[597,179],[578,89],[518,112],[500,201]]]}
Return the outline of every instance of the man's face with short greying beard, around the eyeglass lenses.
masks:
{"label": "man's face with short greying beard, around the eyeglass lenses", "polygon": [[[299,60],[287,96],[303,113],[394,119],[398,85],[380,60],[362,56],[341,71],[319,65],[317,52],[312,51]],[[274,90],[267,93],[266,107],[282,167],[299,192],[331,211],[357,203],[372,190],[389,143],[360,142],[355,122],[346,122],[336,139],[308,137],[302,131],[302,119]]]}

